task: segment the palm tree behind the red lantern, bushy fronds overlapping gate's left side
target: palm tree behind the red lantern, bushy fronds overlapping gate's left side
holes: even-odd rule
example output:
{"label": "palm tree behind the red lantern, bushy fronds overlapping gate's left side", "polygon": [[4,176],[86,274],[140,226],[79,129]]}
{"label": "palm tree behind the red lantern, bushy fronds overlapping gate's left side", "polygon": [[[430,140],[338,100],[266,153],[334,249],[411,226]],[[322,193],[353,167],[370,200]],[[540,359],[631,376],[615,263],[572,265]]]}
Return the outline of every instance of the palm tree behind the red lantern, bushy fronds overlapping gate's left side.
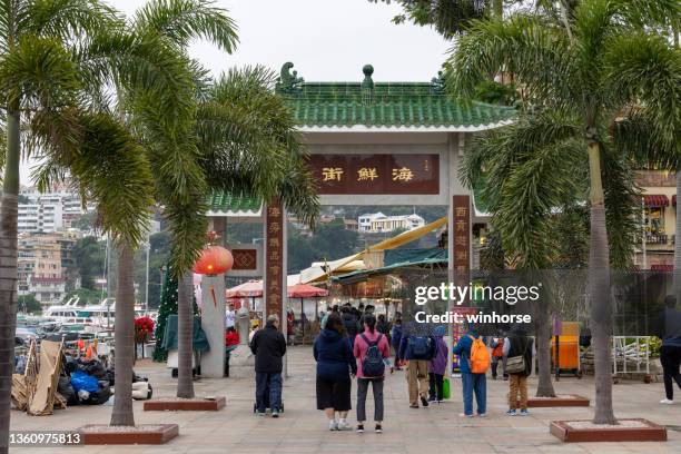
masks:
{"label": "palm tree behind the red lantern, bushy fronds overlapping gate's left side", "polygon": [[[261,67],[233,69],[203,93],[195,130],[200,166],[209,190],[280,198],[312,225],[318,211],[316,187],[293,112],[274,93],[274,82],[275,75]],[[194,397],[189,276],[178,292],[178,320],[188,322],[178,327],[177,396],[186,398]]]}

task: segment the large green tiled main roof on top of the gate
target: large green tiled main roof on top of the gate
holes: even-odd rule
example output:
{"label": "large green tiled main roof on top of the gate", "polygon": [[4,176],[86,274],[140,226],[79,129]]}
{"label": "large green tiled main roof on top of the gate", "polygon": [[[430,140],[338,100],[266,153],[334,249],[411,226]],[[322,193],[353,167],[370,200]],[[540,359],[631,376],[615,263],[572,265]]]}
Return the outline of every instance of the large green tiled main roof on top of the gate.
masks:
{"label": "large green tiled main roof on top of the gate", "polygon": [[483,102],[464,103],[444,93],[443,82],[305,82],[282,68],[277,92],[307,127],[461,127],[486,129],[512,119],[515,110]]}

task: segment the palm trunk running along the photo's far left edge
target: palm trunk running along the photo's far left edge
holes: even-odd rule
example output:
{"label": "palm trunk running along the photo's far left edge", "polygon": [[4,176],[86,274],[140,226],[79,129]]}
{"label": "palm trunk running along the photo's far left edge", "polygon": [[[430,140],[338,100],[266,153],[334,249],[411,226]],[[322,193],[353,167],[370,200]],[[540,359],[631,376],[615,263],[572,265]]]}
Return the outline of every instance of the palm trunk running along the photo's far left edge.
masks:
{"label": "palm trunk running along the photo's far left edge", "polygon": [[7,162],[0,200],[0,453],[9,451],[10,394],[17,329],[17,204],[21,141],[17,109],[8,109]]}

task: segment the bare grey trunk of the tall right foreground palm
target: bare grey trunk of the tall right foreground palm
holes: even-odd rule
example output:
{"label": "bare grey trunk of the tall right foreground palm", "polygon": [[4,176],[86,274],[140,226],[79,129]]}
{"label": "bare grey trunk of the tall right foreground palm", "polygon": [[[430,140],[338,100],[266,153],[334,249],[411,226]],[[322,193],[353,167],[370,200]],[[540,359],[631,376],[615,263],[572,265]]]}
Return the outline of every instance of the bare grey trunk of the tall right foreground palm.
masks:
{"label": "bare grey trunk of the tall right foreground palm", "polygon": [[591,238],[589,251],[589,297],[591,304],[591,345],[595,368],[596,424],[616,424],[612,409],[612,364],[610,336],[612,334],[612,302],[610,297],[610,257],[605,204],[601,180],[601,148],[589,144],[589,172],[591,177]]}

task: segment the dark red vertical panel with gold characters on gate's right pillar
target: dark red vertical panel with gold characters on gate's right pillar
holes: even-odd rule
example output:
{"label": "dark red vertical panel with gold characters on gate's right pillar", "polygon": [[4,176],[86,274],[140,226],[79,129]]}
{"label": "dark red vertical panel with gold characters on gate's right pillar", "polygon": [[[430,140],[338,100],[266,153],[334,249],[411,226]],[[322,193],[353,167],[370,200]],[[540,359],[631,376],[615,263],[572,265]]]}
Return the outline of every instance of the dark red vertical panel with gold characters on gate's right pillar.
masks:
{"label": "dark red vertical panel with gold characters on gate's right pillar", "polygon": [[454,280],[456,286],[467,286],[471,277],[471,197],[453,196],[453,226],[450,240],[454,241]]}

